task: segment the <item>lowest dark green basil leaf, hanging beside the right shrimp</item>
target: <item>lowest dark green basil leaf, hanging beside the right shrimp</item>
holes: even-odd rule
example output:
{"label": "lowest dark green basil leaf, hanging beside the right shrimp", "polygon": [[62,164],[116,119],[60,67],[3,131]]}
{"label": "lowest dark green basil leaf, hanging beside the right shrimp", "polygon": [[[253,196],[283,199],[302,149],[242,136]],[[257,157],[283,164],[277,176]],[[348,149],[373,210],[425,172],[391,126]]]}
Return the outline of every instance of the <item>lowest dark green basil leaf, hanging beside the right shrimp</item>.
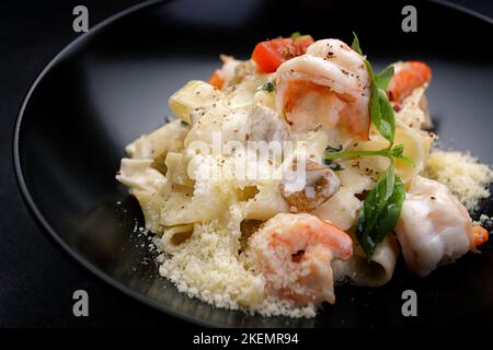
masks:
{"label": "lowest dark green basil leaf, hanging beside the right shrimp", "polygon": [[356,222],[356,238],[368,260],[378,244],[395,228],[404,198],[404,185],[395,175],[393,165],[390,165],[363,202]]}

